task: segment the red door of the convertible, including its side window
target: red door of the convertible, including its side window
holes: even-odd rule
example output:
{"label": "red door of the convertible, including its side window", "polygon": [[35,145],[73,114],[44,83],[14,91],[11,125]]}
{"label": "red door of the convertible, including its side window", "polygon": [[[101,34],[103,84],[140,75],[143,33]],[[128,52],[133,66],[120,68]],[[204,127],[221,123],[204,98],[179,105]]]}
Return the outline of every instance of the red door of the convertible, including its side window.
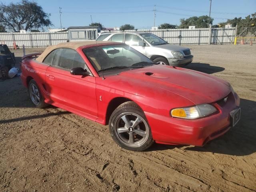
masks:
{"label": "red door of the convertible, including its side window", "polygon": [[89,76],[70,74],[70,69],[74,67],[82,67],[90,72],[78,52],[59,48],[51,52],[44,62],[50,63],[45,77],[50,100],[61,108],[96,117],[95,77],[91,73]]}

